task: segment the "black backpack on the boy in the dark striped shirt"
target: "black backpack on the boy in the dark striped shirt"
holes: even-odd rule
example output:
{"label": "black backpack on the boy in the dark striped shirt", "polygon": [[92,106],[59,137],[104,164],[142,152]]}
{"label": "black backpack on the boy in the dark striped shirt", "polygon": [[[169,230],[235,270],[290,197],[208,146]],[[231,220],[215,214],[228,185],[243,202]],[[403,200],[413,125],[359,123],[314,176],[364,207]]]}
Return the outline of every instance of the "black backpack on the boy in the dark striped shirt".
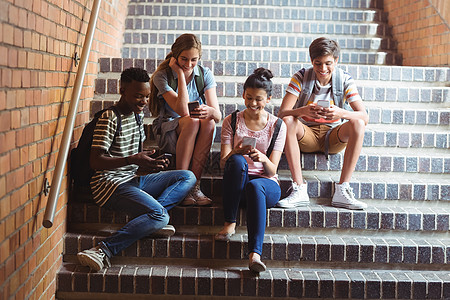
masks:
{"label": "black backpack on the boy in the dark striped shirt", "polygon": [[98,119],[107,110],[112,110],[117,117],[113,143],[122,129],[122,118],[117,107],[111,106],[95,113],[94,118],[84,127],[78,146],[70,152],[70,177],[75,186],[90,188],[91,178],[95,174],[95,170],[91,168],[89,163],[94,129]]}

